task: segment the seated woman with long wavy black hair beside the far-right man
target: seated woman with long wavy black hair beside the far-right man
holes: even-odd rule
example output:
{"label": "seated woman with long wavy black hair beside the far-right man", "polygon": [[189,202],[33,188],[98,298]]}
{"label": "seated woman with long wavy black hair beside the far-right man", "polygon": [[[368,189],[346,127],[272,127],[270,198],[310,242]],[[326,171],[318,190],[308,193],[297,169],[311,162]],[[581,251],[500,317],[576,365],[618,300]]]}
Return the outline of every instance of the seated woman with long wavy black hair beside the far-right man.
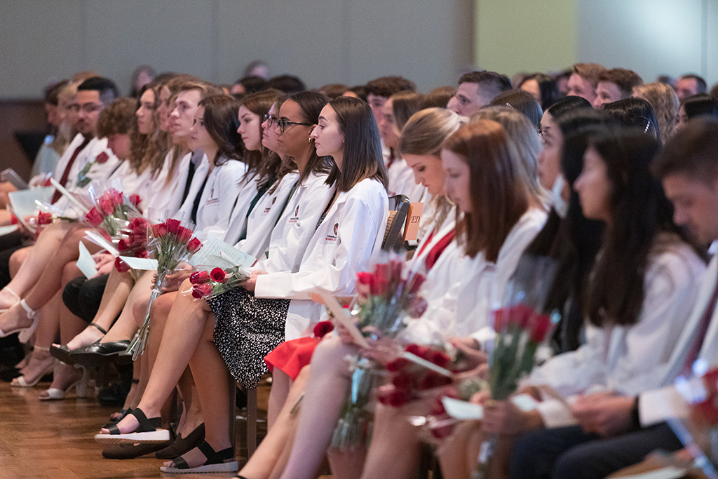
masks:
{"label": "seated woman with long wavy black hair beside the far-right man", "polygon": [[[511,401],[486,408],[485,432],[528,432],[513,447],[511,477],[547,477],[559,450],[592,437],[571,425],[570,397],[579,406],[661,386],[651,371],[671,358],[705,264],[673,225],[670,204],[648,171],[657,150],[643,131],[609,129],[589,141],[574,189],[584,215],[602,220],[606,233],[586,295],[587,343],[531,373],[525,386],[551,390],[538,394],[536,409],[519,411]],[[529,432],[543,427],[558,429]],[[559,436],[563,445],[549,451]]]}

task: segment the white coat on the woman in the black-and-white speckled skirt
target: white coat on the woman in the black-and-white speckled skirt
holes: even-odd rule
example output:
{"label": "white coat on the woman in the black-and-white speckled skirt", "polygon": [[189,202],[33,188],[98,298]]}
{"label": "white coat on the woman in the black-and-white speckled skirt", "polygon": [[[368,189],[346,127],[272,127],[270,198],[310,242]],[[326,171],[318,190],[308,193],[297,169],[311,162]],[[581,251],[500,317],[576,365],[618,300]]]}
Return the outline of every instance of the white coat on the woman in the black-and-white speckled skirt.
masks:
{"label": "white coat on the woman in the black-and-white speckled skirt", "polygon": [[381,247],[388,197],[383,185],[365,179],[348,192],[339,192],[325,220],[314,232],[296,273],[257,276],[254,295],[292,299],[286,317],[286,340],[299,338],[326,315],[312,293],[347,295],[354,292],[356,274]]}

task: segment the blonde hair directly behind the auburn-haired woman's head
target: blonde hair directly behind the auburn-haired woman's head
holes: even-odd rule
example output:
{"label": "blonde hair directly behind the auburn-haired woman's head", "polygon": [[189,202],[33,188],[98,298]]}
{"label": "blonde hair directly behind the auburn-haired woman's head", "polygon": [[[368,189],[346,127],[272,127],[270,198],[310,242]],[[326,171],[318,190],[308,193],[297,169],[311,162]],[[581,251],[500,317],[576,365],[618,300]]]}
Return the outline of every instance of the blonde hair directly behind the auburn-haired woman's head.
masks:
{"label": "blonde hair directly behind the auburn-haired woman's head", "polygon": [[470,124],[480,120],[493,120],[503,126],[509,140],[508,148],[523,167],[523,171],[519,174],[525,176],[524,181],[533,199],[545,205],[548,195],[538,183],[538,155],[541,154],[541,140],[531,121],[521,111],[506,106],[482,108],[473,114]]}

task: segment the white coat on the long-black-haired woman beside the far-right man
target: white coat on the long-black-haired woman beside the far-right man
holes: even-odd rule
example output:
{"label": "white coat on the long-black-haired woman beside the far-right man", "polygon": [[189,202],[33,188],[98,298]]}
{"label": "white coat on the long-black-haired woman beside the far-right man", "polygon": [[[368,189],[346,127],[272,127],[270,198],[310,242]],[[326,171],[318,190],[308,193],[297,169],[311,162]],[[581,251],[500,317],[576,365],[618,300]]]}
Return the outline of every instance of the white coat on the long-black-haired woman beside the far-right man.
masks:
{"label": "white coat on the long-black-haired woman beside the far-right man", "polygon": [[[587,325],[586,344],[550,358],[523,383],[549,386],[564,399],[602,390],[635,396],[663,386],[656,372],[671,363],[676,338],[689,322],[704,271],[704,262],[685,243],[654,252],[648,259],[638,322]],[[538,411],[546,427],[574,424],[567,403],[559,399],[546,398]]]}

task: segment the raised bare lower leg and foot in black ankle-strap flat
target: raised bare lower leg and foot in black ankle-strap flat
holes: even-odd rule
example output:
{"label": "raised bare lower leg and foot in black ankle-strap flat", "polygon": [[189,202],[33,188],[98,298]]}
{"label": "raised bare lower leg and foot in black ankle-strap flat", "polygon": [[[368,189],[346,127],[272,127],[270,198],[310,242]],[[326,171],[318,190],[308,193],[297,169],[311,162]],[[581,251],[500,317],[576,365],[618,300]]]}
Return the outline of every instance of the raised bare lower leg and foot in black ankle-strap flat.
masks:
{"label": "raised bare lower leg and foot in black ankle-strap flat", "polygon": [[[113,268],[107,279],[107,286],[102,295],[100,309],[95,315],[93,322],[103,330],[108,331],[112,327],[113,322],[115,322],[117,315],[122,311],[132,287],[134,287],[134,279],[132,279],[131,274],[129,274],[129,272],[120,273],[117,269]],[[76,337],[70,338],[71,340],[67,343],[67,348],[70,350],[82,348],[102,337],[103,333],[101,330],[93,326],[88,326],[85,327],[82,332],[78,333]]]}

